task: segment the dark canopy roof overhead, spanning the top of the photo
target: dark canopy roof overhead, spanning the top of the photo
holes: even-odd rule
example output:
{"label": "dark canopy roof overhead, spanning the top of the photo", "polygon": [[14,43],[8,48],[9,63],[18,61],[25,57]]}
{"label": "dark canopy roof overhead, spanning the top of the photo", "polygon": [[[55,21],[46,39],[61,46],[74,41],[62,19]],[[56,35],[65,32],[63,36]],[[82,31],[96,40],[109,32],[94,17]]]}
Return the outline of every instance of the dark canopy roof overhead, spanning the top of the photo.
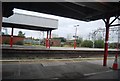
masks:
{"label": "dark canopy roof overhead, spanning the top of the photo", "polygon": [[[82,21],[105,19],[120,15],[120,2],[3,2],[3,16],[9,17],[13,9],[73,18]],[[71,1],[71,0],[70,0]],[[96,0],[97,1],[97,0]]]}

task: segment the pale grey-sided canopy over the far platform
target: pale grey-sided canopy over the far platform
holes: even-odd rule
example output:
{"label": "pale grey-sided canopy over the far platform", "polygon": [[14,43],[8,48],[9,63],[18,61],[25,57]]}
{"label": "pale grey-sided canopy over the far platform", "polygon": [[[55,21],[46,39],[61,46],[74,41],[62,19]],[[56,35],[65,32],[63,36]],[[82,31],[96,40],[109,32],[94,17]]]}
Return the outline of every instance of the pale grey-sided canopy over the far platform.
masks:
{"label": "pale grey-sided canopy over the far platform", "polygon": [[58,20],[14,13],[9,18],[3,18],[3,27],[13,27],[38,31],[54,30],[58,28]]}

